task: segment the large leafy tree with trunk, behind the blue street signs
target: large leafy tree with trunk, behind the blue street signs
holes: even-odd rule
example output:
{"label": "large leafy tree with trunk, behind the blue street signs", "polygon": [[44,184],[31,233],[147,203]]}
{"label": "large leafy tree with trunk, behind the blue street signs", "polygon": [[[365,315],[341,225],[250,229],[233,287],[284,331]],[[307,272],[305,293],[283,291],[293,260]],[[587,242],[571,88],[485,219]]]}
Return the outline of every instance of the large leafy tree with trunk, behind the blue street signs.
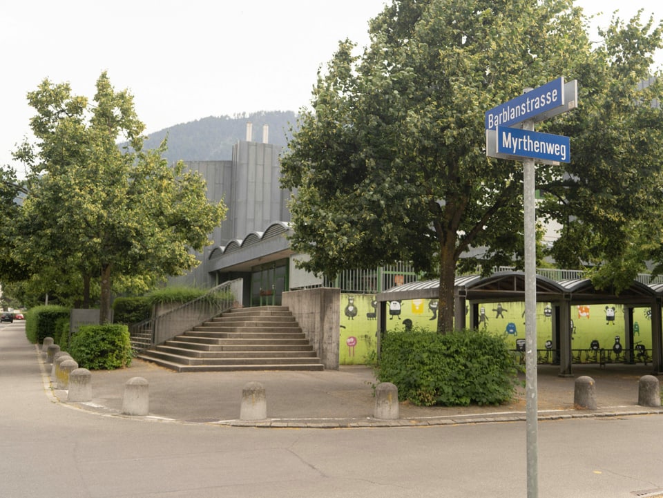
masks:
{"label": "large leafy tree with trunk, behind the blue street signs", "polygon": [[[344,41],[318,73],[282,158],[303,267],[410,261],[439,276],[438,330],[452,329],[457,271],[522,265],[522,164],[486,157],[484,113],[559,76],[578,80],[579,107],[537,128],[570,136],[572,162],[537,166],[539,220],[564,225],[562,265],[624,260],[615,236],[635,244],[660,213],[663,95],[638,84],[661,26],[615,18],[593,44],[572,0],[394,0],[369,26],[361,55]],[[628,256],[622,276],[644,265]]]}

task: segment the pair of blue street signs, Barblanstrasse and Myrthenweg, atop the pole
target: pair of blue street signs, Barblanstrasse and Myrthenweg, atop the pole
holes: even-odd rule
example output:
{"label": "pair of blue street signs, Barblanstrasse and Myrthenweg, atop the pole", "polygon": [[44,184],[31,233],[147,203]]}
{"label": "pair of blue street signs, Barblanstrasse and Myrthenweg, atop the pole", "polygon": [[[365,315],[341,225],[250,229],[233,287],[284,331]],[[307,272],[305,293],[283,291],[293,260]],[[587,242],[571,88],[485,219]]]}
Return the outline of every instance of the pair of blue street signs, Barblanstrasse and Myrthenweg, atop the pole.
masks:
{"label": "pair of blue street signs, Barblanstrasse and Myrthenweg, atop the pole", "polygon": [[566,113],[577,103],[577,81],[564,77],[523,93],[486,112],[486,155],[522,160],[530,157],[543,164],[570,161],[570,140],[560,135],[521,130],[521,124]]}

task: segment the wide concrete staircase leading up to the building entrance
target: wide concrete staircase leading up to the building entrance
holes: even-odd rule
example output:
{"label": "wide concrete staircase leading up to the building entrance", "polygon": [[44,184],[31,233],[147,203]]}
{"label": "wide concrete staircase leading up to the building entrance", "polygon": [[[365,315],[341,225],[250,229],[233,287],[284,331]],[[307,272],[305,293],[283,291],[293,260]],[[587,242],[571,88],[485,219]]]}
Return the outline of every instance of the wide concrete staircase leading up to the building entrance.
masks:
{"label": "wide concrete staircase leading up to the building entrance", "polygon": [[285,306],[232,309],[137,357],[177,372],[324,370]]}

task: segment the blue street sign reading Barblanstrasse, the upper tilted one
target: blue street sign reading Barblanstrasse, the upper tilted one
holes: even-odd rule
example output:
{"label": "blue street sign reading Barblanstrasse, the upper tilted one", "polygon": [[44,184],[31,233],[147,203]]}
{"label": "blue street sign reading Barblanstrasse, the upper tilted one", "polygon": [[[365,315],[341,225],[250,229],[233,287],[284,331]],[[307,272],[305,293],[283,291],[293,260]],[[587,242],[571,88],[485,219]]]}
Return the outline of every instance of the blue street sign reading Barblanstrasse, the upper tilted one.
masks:
{"label": "blue street sign reading Barblanstrasse, the upper tilted one", "polygon": [[[513,126],[527,119],[541,121],[555,115],[555,113],[548,111],[553,111],[553,109],[566,104],[564,89],[564,77],[559,77],[552,82],[539,86],[539,88],[511,99],[509,102],[490,109],[486,112],[486,130],[494,130],[497,126]],[[572,98],[575,106],[577,97],[573,96]]]}

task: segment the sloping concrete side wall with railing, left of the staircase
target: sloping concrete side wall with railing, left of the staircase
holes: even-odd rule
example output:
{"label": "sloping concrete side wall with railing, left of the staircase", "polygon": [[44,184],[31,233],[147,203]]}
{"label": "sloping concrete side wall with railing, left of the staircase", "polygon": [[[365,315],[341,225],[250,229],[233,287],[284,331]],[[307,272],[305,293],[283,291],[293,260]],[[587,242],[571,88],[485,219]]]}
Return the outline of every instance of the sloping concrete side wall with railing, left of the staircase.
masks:
{"label": "sloping concrete side wall with railing, left of the staircase", "polygon": [[169,341],[175,336],[191,330],[206,320],[211,320],[224,312],[229,311],[237,298],[235,293],[242,289],[242,279],[224,282],[209,289],[204,296],[188,303],[183,303],[168,312],[148,318],[129,327],[129,335],[135,338],[134,344],[140,343],[140,337],[150,337],[149,345],[134,347],[136,349],[149,349],[157,344]]}

